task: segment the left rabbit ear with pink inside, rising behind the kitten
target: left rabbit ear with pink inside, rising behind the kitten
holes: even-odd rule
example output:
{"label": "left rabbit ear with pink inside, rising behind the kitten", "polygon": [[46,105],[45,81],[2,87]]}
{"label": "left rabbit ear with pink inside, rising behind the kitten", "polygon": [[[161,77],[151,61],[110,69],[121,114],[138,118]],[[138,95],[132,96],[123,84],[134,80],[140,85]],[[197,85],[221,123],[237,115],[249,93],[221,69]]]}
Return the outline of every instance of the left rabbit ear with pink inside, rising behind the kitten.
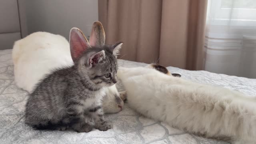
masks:
{"label": "left rabbit ear with pink inside, rising behind the kitten", "polygon": [[89,47],[88,40],[78,28],[72,28],[70,30],[69,44],[73,61],[78,60],[81,54]]}

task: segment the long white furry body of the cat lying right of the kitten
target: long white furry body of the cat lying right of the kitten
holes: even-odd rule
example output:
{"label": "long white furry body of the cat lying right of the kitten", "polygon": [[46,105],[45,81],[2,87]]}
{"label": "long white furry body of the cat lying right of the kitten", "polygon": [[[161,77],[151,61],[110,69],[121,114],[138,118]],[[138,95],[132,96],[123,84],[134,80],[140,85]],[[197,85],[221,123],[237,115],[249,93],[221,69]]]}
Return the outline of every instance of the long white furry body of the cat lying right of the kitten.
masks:
{"label": "long white furry body of the cat lying right of the kitten", "polygon": [[144,116],[207,138],[256,144],[255,98],[144,67],[119,68],[117,76],[130,107]]}

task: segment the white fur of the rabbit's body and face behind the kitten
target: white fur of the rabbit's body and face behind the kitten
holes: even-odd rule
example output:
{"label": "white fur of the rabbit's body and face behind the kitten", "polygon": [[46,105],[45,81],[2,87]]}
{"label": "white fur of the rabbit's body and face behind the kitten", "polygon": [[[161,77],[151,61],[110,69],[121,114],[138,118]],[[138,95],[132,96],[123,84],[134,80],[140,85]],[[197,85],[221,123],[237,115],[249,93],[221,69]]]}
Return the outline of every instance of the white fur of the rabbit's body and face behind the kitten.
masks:
{"label": "white fur of the rabbit's body and face behind the kitten", "polygon": [[[48,32],[35,32],[14,43],[12,50],[14,77],[18,87],[32,92],[35,84],[50,70],[72,66],[69,42],[63,36]],[[116,86],[107,88],[103,106],[105,113],[119,112],[124,103],[116,102]]]}

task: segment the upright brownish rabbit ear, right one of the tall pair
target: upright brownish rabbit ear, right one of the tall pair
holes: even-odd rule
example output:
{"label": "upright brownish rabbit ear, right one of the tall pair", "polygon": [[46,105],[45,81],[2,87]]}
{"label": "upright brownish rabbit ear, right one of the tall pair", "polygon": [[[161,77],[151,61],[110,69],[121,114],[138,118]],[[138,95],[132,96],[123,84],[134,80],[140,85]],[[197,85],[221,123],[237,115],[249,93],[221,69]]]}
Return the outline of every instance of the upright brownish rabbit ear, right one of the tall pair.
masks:
{"label": "upright brownish rabbit ear, right one of the tall pair", "polygon": [[105,44],[104,28],[99,21],[93,23],[89,41],[91,46],[101,46]]}

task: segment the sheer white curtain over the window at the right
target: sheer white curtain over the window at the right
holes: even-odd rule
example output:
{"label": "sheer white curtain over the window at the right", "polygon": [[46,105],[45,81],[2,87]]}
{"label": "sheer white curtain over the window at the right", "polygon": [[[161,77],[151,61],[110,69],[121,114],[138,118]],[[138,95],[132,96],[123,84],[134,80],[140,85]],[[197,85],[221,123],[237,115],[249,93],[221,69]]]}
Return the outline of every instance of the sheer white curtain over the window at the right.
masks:
{"label": "sheer white curtain over the window at the right", "polygon": [[256,78],[256,0],[208,0],[205,70]]}

